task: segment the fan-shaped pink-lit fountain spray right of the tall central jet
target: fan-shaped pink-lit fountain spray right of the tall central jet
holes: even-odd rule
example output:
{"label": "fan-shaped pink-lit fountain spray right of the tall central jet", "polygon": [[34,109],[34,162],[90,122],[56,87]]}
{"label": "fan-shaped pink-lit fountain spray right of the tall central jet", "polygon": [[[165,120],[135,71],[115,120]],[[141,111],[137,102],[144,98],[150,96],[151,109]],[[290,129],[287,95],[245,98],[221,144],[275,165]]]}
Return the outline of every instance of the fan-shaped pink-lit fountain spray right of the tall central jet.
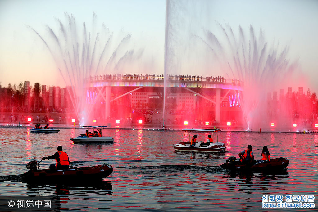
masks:
{"label": "fan-shaped pink-lit fountain spray right of the tall central jet", "polygon": [[[233,85],[243,87],[239,93],[240,106],[247,127],[261,127],[273,119],[268,114],[268,93],[279,91],[292,85],[297,62],[287,59],[288,46],[281,48],[278,44],[268,44],[262,29],[257,35],[252,25],[249,35],[245,35],[241,26],[238,36],[229,25],[218,23],[222,38],[217,38],[211,31],[206,31],[206,40],[211,57],[222,72],[226,73]],[[222,41],[223,42],[222,42]],[[239,82],[237,81],[239,80]],[[281,111],[279,118],[288,116]]]}

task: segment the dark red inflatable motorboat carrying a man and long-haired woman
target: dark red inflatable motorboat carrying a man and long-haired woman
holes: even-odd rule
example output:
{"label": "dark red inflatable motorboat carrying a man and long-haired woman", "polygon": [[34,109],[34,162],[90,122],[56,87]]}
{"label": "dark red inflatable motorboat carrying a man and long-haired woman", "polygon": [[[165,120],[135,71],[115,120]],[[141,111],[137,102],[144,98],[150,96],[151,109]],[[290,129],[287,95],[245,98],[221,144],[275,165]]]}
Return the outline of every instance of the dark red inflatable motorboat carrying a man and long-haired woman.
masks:
{"label": "dark red inflatable motorboat carrying a man and long-haired woman", "polygon": [[266,170],[280,170],[286,168],[289,164],[287,158],[273,158],[270,160],[254,160],[252,164],[244,164],[243,162],[236,160],[236,157],[229,157],[226,163],[223,163],[220,167],[229,169],[231,171],[266,171]]}

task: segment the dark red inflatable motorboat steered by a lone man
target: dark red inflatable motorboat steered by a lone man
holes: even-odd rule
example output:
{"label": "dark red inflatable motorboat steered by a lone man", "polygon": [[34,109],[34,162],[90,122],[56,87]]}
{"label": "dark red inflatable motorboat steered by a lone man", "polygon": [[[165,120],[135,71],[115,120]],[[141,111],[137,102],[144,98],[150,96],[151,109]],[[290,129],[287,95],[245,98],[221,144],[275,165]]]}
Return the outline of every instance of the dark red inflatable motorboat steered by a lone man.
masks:
{"label": "dark red inflatable motorboat steered by a lone man", "polygon": [[[40,161],[42,162],[42,160]],[[26,168],[29,171],[21,174],[26,182],[65,182],[65,181],[87,181],[99,180],[112,174],[113,167],[109,164],[95,165],[89,167],[70,166],[69,169],[51,170],[50,168],[39,169],[40,162],[36,160],[29,162]],[[82,165],[82,164],[79,164]],[[77,165],[77,166],[79,166]]]}

